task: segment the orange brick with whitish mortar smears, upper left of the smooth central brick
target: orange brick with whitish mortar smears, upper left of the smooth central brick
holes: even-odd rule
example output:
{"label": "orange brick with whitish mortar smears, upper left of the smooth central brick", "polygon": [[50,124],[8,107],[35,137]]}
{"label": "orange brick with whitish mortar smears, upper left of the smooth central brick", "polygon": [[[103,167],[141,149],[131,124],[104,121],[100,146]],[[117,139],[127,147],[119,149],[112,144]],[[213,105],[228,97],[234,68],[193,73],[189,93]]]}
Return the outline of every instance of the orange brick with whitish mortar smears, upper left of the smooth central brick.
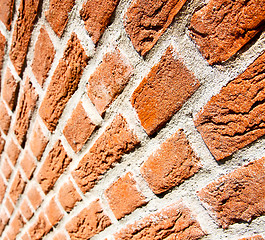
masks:
{"label": "orange brick with whitish mortar smears, upper left of the smooth central brick", "polygon": [[128,60],[116,49],[105,54],[102,63],[89,78],[87,93],[102,116],[123,91],[132,73]]}

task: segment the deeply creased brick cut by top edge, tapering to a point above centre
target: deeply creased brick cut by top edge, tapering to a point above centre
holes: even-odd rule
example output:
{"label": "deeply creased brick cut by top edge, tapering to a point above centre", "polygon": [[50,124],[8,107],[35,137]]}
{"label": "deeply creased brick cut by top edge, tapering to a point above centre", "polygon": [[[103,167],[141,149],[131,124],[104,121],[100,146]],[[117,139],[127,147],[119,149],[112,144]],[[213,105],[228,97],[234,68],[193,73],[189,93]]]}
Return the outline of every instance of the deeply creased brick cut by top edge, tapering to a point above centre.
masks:
{"label": "deeply creased brick cut by top edge, tapering to a point above centre", "polygon": [[125,29],[134,48],[145,55],[174,20],[186,0],[134,0],[125,15]]}

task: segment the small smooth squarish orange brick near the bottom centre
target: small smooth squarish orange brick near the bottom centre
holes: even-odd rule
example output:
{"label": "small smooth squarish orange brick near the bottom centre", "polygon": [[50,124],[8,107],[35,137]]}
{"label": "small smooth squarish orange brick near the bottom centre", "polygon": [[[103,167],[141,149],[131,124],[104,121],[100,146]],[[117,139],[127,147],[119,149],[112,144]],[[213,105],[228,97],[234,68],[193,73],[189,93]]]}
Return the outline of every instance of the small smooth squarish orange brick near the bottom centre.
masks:
{"label": "small smooth squarish orange brick near the bottom centre", "polygon": [[138,186],[131,173],[119,178],[106,191],[110,208],[117,219],[130,214],[136,208],[147,203],[146,198],[138,190]]}

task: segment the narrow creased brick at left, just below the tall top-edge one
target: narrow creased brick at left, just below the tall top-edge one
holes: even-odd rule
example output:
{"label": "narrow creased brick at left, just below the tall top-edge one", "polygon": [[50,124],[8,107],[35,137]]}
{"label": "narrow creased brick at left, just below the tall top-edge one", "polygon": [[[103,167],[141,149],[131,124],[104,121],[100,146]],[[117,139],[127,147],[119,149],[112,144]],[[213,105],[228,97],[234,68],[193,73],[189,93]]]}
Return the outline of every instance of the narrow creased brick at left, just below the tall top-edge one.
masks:
{"label": "narrow creased brick at left, just below the tall top-edge one", "polygon": [[13,129],[17,141],[21,146],[24,146],[26,141],[30,119],[35,109],[37,99],[38,95],[29,78],[27,78],[19,99],[16,121]]}

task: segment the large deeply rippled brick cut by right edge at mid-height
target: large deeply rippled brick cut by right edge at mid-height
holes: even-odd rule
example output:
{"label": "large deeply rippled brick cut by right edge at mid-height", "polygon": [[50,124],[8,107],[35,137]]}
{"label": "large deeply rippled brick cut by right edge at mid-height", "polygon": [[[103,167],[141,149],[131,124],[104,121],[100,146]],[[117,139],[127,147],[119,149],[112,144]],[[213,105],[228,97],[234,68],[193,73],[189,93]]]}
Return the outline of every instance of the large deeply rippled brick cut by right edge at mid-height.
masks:
{"label": "large deeply rippled brick cut by right edge at mid-height", "polygon": [[194,119],[217,161],[265,134],[265,53],[213,96]]}

